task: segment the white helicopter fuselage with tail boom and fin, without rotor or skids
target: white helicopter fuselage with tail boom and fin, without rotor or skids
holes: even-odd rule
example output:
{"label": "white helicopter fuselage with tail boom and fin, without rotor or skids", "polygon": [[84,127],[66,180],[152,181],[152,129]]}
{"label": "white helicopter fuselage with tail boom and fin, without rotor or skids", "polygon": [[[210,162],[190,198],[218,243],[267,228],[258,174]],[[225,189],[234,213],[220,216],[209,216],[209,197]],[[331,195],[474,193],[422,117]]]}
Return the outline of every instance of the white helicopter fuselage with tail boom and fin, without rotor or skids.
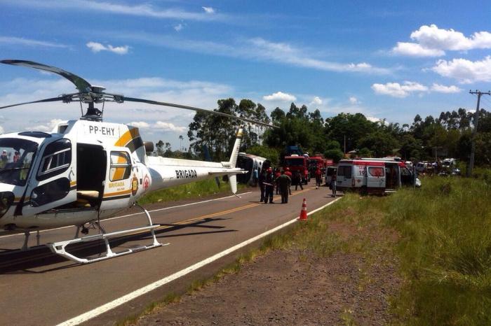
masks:
{"label": "white helicopter fuselage with tail boom and fin, without rotor or skids", "polygon": [[0,136],[0,228],[81,226],[133,206],[149,191],[229,176],[235,161],[201,162],[147,156],[136,127],[93,120],[60,123],[53,132]]}

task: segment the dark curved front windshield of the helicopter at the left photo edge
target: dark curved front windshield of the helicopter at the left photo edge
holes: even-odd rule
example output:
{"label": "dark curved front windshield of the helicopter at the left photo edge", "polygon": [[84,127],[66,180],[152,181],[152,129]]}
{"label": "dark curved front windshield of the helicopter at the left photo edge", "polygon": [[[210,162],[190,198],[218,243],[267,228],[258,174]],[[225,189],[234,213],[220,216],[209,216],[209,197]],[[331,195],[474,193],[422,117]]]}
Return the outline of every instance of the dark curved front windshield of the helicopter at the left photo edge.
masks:
{"label": "dark curved front windshield of the helicopter at the left photo edge", "polygon": [[0,139],[0,183],[25,185],[37,143],[26,139]]}

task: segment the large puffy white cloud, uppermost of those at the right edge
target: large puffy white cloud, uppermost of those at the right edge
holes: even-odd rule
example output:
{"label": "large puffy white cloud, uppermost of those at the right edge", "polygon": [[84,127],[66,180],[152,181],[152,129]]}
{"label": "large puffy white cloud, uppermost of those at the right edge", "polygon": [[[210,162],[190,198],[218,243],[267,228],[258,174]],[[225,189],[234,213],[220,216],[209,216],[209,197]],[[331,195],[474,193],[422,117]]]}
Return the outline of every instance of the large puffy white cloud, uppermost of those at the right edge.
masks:
{"label": "large puffy white cloud, uppermost of those at the right edge", "polygon": [[462,51],[491,48],[491,33],[478,31],[470,37],[454,29],[440,29],[436,24],[423,25],[411,33],[411,39],[417,43],[398,42],[392,52],[398,55],[417,57],[439,57],[445,50]]}

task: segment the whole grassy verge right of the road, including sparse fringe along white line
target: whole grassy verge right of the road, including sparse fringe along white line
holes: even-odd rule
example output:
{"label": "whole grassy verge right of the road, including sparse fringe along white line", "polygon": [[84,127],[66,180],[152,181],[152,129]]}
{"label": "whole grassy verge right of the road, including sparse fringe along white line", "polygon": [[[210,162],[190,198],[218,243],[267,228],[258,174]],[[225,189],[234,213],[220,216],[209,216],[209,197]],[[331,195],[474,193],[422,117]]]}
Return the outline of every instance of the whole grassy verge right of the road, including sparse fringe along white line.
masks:
{"label": "whole grassy verge right of the road, including sparse fringe along white line", "polygon": [[[195,281],[189,292],[239,272],[270,250],[289,250],[306,264],[311,255],[350,253],[363,257],[358,290],[374,282],[371,267],[398,266],[401,290],[389,298],[391,324],[491,325],[489,175],[478,169],[475,178],[426,177],[421,190],[388,197],[346,194],[307,223],[265,239],[215,276]],[[145,314],[176,300],[175,294],[164,298]],[[351,314],[348,319],[353,321]]]}

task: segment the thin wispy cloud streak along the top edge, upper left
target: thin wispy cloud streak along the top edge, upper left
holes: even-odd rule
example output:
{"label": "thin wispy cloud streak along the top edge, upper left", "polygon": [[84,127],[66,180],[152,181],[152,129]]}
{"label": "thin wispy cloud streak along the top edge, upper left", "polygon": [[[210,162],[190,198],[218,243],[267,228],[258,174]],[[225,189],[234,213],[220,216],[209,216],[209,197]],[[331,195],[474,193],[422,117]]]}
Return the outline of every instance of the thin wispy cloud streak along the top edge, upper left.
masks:
{"label": "thin wispy cloud streak along the top edge, upper left", "polygon": [[111,1],[88,1],[88,0],[15,0],[11,3],[16,6],[25,6],[28,8],[49,8],[50,10],[64,9],[76,10],[76,12],[95,11],[97,13],[112,13],[116,15],[131,15],[140,17],[152,17],[156,19],[182,19],[182,20],[225,20],[224,15],[210,15],[206,12],[190,12],[180,8],[158,8],[151,4],[137,4],[134,6],[124,3]]}

